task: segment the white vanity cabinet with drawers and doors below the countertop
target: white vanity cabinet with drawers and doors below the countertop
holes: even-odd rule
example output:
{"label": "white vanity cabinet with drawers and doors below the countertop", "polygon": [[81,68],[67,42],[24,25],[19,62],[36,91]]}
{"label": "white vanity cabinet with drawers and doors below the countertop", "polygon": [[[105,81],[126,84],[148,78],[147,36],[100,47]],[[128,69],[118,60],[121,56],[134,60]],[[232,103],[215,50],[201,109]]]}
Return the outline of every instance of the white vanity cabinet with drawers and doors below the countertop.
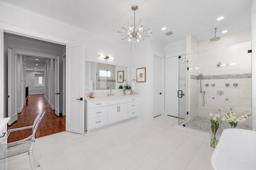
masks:
{"label": "white vanity cabinet with drawers and doors below the countertop", "polygon": [[139,96],[106,97],[85,100],[85,131],[123,121],[139,114]]}

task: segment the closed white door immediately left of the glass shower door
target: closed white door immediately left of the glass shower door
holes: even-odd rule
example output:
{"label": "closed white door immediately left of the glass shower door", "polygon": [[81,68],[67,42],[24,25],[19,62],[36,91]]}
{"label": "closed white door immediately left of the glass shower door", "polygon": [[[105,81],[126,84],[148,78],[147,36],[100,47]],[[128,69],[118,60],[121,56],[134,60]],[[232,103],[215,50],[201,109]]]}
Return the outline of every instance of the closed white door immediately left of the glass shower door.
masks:
{"label": "closed white door immediately left of the glass shower door", "polygon": [[179,116],[179,58],[166,58],[166,114],[174,117]]}

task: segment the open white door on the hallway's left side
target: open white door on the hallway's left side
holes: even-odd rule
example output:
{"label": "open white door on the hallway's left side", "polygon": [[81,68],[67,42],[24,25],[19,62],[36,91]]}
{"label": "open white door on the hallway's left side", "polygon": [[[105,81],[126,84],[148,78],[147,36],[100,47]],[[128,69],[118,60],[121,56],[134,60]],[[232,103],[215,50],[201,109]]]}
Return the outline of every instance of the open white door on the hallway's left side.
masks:
{"label": "open white door on the hallway's left side", "polygon": [[8,125],[18,120],[17,114],[17,54],[8,49],[8,117],[10,121]]}

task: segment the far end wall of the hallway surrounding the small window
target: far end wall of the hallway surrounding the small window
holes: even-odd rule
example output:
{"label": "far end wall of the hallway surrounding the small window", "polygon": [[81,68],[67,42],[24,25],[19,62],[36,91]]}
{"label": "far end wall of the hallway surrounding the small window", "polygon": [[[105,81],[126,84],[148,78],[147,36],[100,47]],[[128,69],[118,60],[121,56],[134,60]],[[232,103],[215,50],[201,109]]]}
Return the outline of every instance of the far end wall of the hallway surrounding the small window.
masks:
{"label": "far end wall of the hallway surrounding the small window", "polygon": [[44,94],[44,87],[35,87],[35,74],[44,74],[44,72],[26,70],[26,86],[28,86],[28,94]]}

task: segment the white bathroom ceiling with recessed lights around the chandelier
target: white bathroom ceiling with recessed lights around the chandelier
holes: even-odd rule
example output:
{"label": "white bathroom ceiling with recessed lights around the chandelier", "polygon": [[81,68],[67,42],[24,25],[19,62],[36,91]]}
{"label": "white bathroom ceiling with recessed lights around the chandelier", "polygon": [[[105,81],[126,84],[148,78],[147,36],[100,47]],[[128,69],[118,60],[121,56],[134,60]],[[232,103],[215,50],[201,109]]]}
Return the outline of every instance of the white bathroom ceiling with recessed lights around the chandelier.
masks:
{"label": "white bathroom ceiling with recessed lights around the chandelier", "polygon": [[[3,0],[27,10],[75,25],[109,41],[120,41],[120,25],[128,28],[132,5],[136,20],[152,29],[152,39],[166,45],[192,35],[198,42],[251,29],[251,0]],[[221,21],[216,19],[225,18]],[[138,23],[138,21],[136,21]],[[162,31],[162,27],[167,27]],[[228,30],[227,33],[221,33]],[[172,35],[165,35],[172,31]]]}

